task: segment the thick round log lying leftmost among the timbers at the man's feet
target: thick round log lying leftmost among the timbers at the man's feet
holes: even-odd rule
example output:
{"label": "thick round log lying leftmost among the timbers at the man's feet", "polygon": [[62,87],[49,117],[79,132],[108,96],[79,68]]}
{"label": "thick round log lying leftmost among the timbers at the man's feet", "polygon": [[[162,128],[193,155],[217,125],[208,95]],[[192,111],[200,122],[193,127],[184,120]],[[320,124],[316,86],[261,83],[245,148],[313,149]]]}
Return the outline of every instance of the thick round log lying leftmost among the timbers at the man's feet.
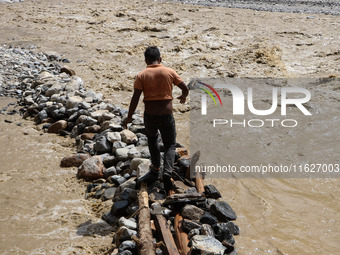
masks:
{"label": "thick round log lying leftmost among the timbers at the man's feet", "polygon": [[149,211],[149,196],[147,186],[142,184],[138,194],[139,216],[138,216],[138,231],[139,231],[139,254],[140,255],[155,255],[155,246],[150,225]]}

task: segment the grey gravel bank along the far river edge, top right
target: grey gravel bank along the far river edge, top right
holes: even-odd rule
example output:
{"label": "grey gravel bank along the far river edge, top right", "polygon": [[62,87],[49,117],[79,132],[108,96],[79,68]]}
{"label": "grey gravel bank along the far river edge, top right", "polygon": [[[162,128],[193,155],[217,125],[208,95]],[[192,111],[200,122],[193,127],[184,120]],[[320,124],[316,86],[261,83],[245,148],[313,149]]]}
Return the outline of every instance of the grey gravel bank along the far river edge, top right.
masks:
{"label": "grey gravel bank along the far river edge, top right", "polygon": [[170,2],[257,11],[340,15],[339,0],[175,0]]}

